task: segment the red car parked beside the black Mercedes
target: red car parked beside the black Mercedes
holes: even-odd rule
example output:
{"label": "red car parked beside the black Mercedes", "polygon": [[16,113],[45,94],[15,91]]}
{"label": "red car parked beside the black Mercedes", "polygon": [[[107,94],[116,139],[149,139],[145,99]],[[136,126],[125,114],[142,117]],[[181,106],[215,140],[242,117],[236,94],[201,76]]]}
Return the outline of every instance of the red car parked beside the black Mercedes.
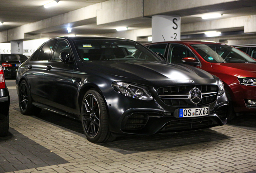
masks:
{"label": "red car parked beside the black Mercedes", "polygon": [[229,99],[229,116],[256,113],[256,60],[226,44],[207,41],[157,42],[145,45],[171,63],[196,66],[218,76]]}

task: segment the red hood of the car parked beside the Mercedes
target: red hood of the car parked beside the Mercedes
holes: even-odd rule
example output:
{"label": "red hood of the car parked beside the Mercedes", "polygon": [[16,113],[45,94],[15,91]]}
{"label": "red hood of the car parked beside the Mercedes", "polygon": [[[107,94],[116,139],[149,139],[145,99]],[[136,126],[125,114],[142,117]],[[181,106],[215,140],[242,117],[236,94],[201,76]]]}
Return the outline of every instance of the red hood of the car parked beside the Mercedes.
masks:
{"label": "red hood of the car parked beside the Mercedes", "polygon": [[256,64],[254,63],[212,63],[214,70],[243,77],[256,77]]}

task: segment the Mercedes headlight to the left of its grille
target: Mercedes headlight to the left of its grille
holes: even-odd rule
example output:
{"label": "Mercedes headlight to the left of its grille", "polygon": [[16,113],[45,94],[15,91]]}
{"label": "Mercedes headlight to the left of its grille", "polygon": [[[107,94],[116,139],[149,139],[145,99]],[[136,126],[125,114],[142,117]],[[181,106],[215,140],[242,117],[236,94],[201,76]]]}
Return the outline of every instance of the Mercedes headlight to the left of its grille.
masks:
{"label": "Mercedes headlight to the left of its grille", "polygon": [[112,86],[116,92],[126,97],[146,101],[153,100],[153,97],[150,95],[149,91],[141,86],[128,84],[125,82],[113,82]]}

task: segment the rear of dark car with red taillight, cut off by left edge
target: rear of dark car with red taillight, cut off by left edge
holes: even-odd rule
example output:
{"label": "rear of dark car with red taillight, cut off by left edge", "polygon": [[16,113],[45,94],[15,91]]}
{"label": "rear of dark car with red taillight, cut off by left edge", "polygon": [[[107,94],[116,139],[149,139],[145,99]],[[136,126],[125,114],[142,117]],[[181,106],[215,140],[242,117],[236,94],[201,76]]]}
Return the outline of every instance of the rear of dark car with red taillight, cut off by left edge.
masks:
{"label": "rear of dark car with red taillight, cut off by left edge", "polygon": [[4,70],[0,66],[0,137],[6,136],[9,130],[10,96],[5,84]]}

